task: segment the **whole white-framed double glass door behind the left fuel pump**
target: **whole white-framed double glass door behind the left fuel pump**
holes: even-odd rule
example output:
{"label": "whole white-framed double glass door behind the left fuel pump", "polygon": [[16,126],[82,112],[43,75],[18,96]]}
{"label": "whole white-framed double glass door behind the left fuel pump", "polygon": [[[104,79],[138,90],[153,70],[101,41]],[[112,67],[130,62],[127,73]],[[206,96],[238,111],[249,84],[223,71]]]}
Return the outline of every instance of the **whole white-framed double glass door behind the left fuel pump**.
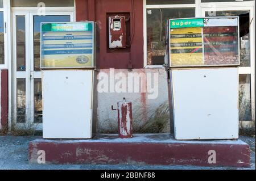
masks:
{"label": "whole white-framed double glass door behind the left fuel pump", "polygon": [[72,12],[14,12],[14,127],[42,129],[42,75],[40,71],[40,23],[70,22]]}

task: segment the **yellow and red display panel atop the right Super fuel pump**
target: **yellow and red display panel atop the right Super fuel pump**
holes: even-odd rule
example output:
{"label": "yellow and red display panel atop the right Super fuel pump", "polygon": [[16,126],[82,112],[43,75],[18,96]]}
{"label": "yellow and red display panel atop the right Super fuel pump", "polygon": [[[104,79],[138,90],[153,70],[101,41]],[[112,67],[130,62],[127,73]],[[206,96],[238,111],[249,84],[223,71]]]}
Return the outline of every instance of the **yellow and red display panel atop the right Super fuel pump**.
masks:
{"label": "yellow and red display panel atop the right Super fuel pump", "polygon": [[171,67],[240,64],[238,17],[170,19]]}

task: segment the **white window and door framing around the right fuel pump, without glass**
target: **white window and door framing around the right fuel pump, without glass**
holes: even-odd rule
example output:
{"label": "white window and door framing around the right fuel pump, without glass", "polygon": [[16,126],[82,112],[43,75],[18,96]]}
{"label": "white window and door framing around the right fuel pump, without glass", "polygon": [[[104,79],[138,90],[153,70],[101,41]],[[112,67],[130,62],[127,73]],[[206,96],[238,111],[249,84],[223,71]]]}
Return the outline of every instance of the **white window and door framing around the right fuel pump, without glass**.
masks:
{"label": "white window and door framing around the right fuel pump, without glass", "polygon": [[[216,7],[216,9],[225,8],[227,10],[242,10],[247,7],[251,13],[251,26],[255,29],[255,1],[237,1],[237,2],[205,2],[201,3],[201,0],[195,0],[195,4],[181,4],[181,5],[146,5],[146,0],[143,0],[143,67],[144,68],[164,68],[161,65],[147,65],[147,9],[154,8],[182,8],[182,7],[195,7],[195,17],[203,17],[204,10],[212,7]],[[255,35],[251,33],[251,62],[250,67],[240,67],[239,74],[250,74],[250,83],[251,83],[251,120],[255,121]],[[246,123],[246,125],[250,126],[250,122],[252,121],[240,121]]]}

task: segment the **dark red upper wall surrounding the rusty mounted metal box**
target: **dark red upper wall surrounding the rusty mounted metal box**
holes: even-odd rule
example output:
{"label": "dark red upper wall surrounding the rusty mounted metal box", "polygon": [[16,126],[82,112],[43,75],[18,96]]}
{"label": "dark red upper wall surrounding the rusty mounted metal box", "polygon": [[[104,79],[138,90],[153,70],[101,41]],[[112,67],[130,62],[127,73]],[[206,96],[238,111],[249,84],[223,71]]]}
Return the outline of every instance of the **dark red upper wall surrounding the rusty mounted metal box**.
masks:
{"label": "dark red upper wall surrounding the rusty mounted metal box", "polygon": [[[143,68],[143,1],[134,0],[134,18],[132,0],[76,0],[76,21],[95,20],[100,28],[100,69],[126,69],[131,54],[134,69]],[[116,50],[107,52],[107,13],[130,12],[130,31],[134,38],[130,52]],[[134,23],[133,23],[134,19]]]}

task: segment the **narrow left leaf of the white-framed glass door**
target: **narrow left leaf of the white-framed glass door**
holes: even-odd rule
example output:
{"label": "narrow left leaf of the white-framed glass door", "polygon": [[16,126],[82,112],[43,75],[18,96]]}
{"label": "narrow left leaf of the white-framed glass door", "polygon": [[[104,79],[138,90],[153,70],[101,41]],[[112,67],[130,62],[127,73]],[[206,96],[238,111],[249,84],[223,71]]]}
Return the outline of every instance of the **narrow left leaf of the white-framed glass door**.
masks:
{"label": "narrow left leaf of the white-framed glass door", "polygon": [[14,120],[15,128],[28,129],[30,68],[28,12],[13,14]]}

